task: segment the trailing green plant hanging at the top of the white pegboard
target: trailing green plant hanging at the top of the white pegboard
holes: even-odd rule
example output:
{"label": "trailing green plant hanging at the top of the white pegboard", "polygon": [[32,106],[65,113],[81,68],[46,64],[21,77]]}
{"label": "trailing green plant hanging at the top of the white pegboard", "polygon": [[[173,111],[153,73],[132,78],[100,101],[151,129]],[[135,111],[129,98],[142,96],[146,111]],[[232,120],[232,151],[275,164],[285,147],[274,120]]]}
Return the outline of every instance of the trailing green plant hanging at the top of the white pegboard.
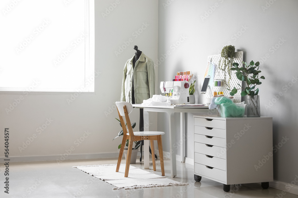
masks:
{"label": "trailing green plant hanging at the top of the white pegboard", "polygon": [[[232,80],[232,64],[234,62],[235,46],[227,45],[221,50],[221,58],[218,61],[218,68],[224,72],[224,83],[230,88],[230,80]],[[227,74],[229,77],[227,77]]]}

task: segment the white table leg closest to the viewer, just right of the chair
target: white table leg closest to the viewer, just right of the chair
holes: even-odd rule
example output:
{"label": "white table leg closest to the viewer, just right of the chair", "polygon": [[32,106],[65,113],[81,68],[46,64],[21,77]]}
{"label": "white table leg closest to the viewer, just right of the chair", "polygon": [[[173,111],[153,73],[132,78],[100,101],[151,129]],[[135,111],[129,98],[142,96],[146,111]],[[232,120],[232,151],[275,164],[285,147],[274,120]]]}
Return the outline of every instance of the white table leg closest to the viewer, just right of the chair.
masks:
{"label": "white table leg closest to the viewer, just right of the chair", "polygon": [[[176,150],[173,148],[173,144],[176,144],[176,133],[175,133],[175,117],[174,112],[167,112],[169,115],[169,135],[170,135],[170,161],[171,161],[171,177],[177,176],[176,170]],[[173,127],[172,127],[173,126]],[[173,129],[173,132],[172,132]]]}

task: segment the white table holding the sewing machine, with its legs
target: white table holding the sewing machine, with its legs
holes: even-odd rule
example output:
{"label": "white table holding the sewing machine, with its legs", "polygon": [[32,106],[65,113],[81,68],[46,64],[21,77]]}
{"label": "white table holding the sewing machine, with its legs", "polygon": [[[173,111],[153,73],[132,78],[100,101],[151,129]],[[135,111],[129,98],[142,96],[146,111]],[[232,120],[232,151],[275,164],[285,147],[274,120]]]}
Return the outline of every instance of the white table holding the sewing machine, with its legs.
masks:
{"label": "white table holding the sewing machine, with its legs", "polygon": [[[185,162],[185,113],[208,113],[210,112],[206,106],[146,106],[142,104],[133,104],[136,108],[144,108],[144,123],[149,123],[148,112],[164,112],[169,115],[169,136],[170,136],[170,162],[171,176],[177,176],[176,171],[176,151],[173,145],[176,143],[176,134],[172,133],[172,124],[174,125],[174,113],[180,113],[180,140],[181,140],[181,162]],[[144,125],[144,131],[149,131],[149,125]],[[178,142],[177,142],[178,144]],[[144,169],[149,169],[149,141],[144,141]]]}

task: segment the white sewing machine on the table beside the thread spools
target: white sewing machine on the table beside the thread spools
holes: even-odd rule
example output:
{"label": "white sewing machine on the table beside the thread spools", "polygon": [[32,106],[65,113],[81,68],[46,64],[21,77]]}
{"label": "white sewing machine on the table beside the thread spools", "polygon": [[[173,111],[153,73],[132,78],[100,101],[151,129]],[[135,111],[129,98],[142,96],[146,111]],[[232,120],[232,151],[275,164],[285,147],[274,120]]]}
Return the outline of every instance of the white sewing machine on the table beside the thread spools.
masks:
{"label": "white sewing machine on the table beside the thread spools", "polygon": [[172,104],[189,104],[189,86],[187,81],[160,82],[160,90],[170,97]]}

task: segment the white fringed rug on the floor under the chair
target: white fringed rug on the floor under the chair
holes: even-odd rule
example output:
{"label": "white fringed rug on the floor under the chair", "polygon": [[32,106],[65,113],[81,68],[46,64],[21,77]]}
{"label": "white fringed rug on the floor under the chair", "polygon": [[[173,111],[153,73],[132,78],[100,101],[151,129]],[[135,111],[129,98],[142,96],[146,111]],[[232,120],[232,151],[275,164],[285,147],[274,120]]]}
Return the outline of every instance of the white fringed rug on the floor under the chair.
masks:
{"label": "white fringed rug on the floor under the chair", "polygon": [[188,185],[187,183],[177,182],[168,179],[165,176],[156,175],[152,172],[148,172],[133,166],[129,167],[128,177],[125,178],[125,164],[120,165],[119,172],[116,172],[116,166],[117,164],[105,164],[74,166],[73,168],[77,168],[88,173],[89,175],[116,186],[113,188],[114,190]]}

